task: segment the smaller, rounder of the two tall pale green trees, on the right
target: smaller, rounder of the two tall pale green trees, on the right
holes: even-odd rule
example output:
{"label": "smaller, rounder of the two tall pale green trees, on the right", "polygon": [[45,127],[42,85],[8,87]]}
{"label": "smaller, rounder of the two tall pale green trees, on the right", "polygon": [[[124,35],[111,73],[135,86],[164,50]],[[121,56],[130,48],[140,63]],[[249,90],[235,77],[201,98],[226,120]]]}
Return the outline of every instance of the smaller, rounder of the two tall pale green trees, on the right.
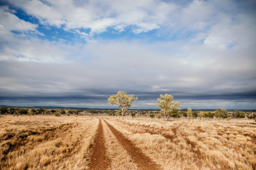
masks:
{"label": "smaller, rounder of the two tall pale green trees, on the right", "polygon": [[179,102],[174,103],[174,97],[171,94],[161,94],[157,102],[157,107],[161,108],[160,113],[164,116],[163,120],[165,120],[168,112],[176,110],[179,107]]}

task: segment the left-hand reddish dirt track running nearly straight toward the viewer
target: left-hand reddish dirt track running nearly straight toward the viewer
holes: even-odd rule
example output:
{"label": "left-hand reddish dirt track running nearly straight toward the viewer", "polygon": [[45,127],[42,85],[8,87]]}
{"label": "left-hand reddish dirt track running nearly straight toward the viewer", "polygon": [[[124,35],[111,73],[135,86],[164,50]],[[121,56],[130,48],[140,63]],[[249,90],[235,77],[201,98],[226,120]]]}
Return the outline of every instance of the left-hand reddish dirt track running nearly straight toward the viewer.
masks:
{"label": "left-hand reddish dirt track running nearly straight toward the viewer", "polygon": [[101,119],[99,119],[99,127],[97,130],[94,143],[92,145],[92,157],[91,162],[89,163],[90,169],[107,169],[110,165],[111,160],[106,156],[106,149],[104,146],[103,138],[103,126]]}

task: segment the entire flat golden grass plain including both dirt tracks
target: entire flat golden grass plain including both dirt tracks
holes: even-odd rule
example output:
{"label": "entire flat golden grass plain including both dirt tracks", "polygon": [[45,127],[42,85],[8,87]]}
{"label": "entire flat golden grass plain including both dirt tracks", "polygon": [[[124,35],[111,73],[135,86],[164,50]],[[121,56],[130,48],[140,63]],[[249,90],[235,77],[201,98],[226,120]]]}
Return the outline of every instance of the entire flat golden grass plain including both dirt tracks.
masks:
{"label": "entire flat golden grass plain including both dirt tracks", "polygon": [[1,169],[255,169],[253,120],[0,118]]}

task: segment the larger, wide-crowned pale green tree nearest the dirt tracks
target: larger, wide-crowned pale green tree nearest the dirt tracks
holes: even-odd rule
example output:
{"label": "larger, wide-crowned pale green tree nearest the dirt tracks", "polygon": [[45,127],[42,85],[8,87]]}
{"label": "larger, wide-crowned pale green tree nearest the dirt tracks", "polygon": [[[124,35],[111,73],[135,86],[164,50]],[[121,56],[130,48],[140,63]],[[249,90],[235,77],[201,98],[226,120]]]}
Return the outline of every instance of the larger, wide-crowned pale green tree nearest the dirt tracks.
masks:
{"label": "larger, wide-crowned pale green tree nearest the dirt tracks", "polygon": [[108,99],[108,104],[118,105],[119,109],[122,110],[122,119],[123,114],[127,111],[133,104],[133,102],[137,101],[138,98],[134,97],[134,94],[127,95],[124,91],[118,91],[117,94],[113,94]]}

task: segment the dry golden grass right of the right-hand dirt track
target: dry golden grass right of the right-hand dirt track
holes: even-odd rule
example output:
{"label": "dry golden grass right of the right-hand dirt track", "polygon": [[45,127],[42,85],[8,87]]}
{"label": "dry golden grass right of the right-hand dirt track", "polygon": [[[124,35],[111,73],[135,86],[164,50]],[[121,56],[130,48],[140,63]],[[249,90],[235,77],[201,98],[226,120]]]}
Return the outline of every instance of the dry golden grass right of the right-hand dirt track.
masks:
{"label": "dry golden grass right of the right-hand dirt track", "polygon": [[[149,121],[148,121],[149,120]],[[247,120],[109,121],[164,169],[255,169],[255,125]],[[138,134],[143,128],[152,133]],[[167,138],[165,138],[165,137]]]}

